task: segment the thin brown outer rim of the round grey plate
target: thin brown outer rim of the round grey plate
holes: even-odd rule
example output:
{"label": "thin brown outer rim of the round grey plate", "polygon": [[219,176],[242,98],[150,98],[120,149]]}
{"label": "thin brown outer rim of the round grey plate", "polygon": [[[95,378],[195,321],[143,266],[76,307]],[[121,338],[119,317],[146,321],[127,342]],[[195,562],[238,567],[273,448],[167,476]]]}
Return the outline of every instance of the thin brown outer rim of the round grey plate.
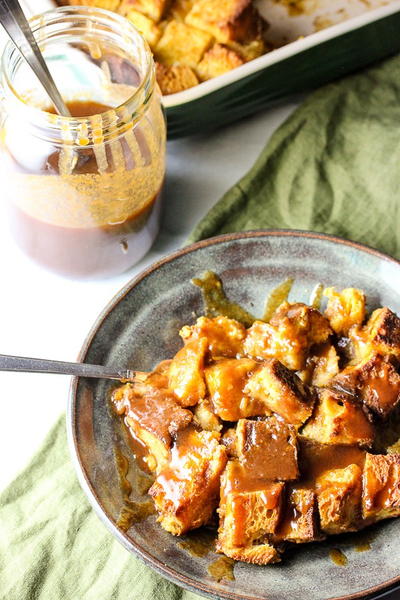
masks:
{"label": "thin brown outer rim of the round grey plate", "polygon": [[[400,260],[381,252],[380,250],[376,250],[371,246],[366,244],[362,244],[360,242],[354,242],[352,240],[347,240],[345,238],[320,233],[313,231],[304,231],[297,229],[258,229],[258,230],[249,230],[245,232],[234,232],[234,233],[225,233],[222,235],[210,237],[204,240],[200,240],[199,242],[195,242],[194,244],[190,244],[188,246],[184,246],[175,252],[172,252],[160,260],[152,263],[145,269],[143,269],[140,273],[138,273],[135,277],[127,282],[107,303],[105,308],[100,312],[97,319],[94,321],[92,327],[90,328],[88,334],[86,335],[81,349],[78,354],[77,361],[85,362],[85,357],[90,348],[90,345],[93,341],[94,336],[97,331],[101,327],[104,320],[107,318],[111,310],[113,310],[119,302],[141,281],[143,281],[146,277],[148,277],[151,273],[159,269],[164,264],[174,261],[176,258],[184,256],[186,254],[190,254],[191,252],[195,252],[201,248],[206,248],[211,245],[221,244],[227,241],[241,240],[241,239],[249,239],[249,238],[262,238],[262,237],[301,237],[306,239],[319,239],[326,242],[331,242],[333,244],[341,244],[350,248],[354,248],[361,252],[365,252],[372,256],[376,256],[382,260],[385,260],[390,263],[394,263],[398,267],[400,267]],[[175,569],[170,568],[168,565],[163,563],[161,560],[152,556],[149,552],[147,552],[144,548],[140,546],[140,544],[131,538],[128,535],[121,531],[109,518],[107,515],[100,499],[97,497],[97,494],[92,487],[85,469],[83,467],[80,454],[79,454],[79,446],[77,443],[75,423],[76,423],[76,396],[78,391],[78,385],[80,377],[73,377],[70,389],[69,389],[69,397],[68,397],[68,405],[66,411],[66,428],[67,428],[67,440],[70,456],[72,458],[72,463],[75,467],[75,471],[77,474],[78,481],[89,500],[92,508],[94,509],[97,516],[100,518],[102,523],[107,527],[107,529],[113,534],[113,536],[128,550],[131,554],[134,554],[138,557],[142,562],[144,562],[147,566],[155,570],[157,573],[189,591],[192,591],[197,594],[201,594],[206,597],[215,598],[216,600],[267,600],[265,597],[257,597],[257,596],[248,596],[243,594],[238,594],[234,592],[228,592],[224,590],[215,591],[212,589],[211,585],[204,584],[202,582],[196,582],[194,579],[187,577],[176,571]],[[326,598],[326,600],[367,600],[373,599],[376,597],[376,594],[388,593],[391,591],[396,591],[400,589],[400,575],[386,581],[380,583],[376,586],[370,587],[369,589],[365,589],[359,592],[354,592],[351,594],[346,594],[345,596],[337,596]],[[273,600],[273,597],[270,598]]]}

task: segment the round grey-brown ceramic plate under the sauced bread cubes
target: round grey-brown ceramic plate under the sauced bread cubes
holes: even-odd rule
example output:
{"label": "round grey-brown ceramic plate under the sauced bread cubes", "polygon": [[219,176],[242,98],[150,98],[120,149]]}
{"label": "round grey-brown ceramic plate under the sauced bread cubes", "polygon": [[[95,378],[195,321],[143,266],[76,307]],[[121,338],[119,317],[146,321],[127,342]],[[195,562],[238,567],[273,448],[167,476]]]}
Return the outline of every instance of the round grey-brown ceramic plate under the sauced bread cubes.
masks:
{"label": "round grey-brown ceramic plate under the sauced bread cubes", "polygon": [[[400,263],[375,250],[338,238],[293,231],[230,234],[184,248],[129,283],[107,306],[85,341],[80,359],[95,364],[150,370],[180,347],[179,328],[203,311],[193,277],[217,272],[230,298],[256,316],[269,290],[295,279],[290,299],[307,302],[317,283],[365,290],[368,308],[389,306],[400,313]],[[400,519],[375,526],[371,550],[357,552],[357,539],[341,537],[299,546],[280,565],[236,563],[234,581],[213,580],[210,551],[190,556],[150,516],[128,531],[116,526],[123,509],[115,451],[129,456],[120,421],[112,415],[105,381],[76,379],[71,388],[68,431],[81,485],[113,535],[150,567],[178,585],[211,598],[241,600],[327,600],[377,597],[400,584]],[[136,493],[135,465],[128,474]],[[341,548],[346,567],[329,557]]]}

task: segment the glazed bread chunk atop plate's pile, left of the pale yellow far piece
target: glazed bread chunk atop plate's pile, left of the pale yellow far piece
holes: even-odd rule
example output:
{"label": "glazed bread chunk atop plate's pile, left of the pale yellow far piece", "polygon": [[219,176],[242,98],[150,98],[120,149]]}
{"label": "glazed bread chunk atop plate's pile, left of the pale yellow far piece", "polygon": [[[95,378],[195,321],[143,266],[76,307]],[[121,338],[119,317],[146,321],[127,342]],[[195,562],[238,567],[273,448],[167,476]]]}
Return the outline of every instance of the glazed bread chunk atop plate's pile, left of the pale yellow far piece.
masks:
{"label": "glazed bread chunk atop plate's pile, left of the pale yellow far piece", "polygon": [[244,352],[255,358],[276,358],[288,369],[304,369],[309,349],[325,342],[332,330],[325,317],[305,304],[284,302],[270,323],[255,321],[247,332]]}

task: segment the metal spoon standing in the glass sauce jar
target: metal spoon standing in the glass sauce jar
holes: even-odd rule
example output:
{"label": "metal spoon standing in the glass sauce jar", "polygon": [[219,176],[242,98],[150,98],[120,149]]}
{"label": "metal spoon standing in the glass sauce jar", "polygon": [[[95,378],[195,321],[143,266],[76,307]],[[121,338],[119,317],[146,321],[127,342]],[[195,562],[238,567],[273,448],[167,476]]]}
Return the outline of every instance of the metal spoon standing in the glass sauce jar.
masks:
{"label": "metal spoon standing in the glass sauce jar", "polygon": [[0,0],[0,23],[39,79],[58,114],[70,117],[18,0]]}

